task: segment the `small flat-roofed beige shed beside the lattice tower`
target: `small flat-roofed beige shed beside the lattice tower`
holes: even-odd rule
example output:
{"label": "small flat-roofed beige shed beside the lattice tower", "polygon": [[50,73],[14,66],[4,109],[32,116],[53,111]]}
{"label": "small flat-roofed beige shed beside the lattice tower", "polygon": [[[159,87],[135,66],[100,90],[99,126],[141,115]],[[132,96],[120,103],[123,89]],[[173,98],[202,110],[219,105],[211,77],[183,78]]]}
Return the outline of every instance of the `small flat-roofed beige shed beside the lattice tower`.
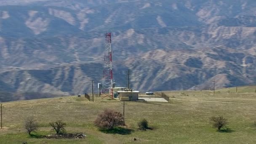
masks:
{"label": "small flat-roofed beige shed beside the lattice tower", "polygon": [[120,101],[138,101],[139,91],[117,91]]}

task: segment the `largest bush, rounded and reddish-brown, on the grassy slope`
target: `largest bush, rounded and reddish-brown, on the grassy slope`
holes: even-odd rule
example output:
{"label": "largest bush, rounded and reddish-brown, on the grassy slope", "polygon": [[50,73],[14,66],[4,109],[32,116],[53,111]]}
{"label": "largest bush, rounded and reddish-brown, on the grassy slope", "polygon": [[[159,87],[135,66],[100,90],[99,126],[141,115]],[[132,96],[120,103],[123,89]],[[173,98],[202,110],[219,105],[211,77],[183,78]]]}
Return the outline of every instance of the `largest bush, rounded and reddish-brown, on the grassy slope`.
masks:
{"label": "largest bush, rounded and reddish-brown, on the grassy slope", "polygon": [[123,115],[113,109],[105,109],[104,112],[94,121],[94,124],[101,129],[113,129],[125,125]]}

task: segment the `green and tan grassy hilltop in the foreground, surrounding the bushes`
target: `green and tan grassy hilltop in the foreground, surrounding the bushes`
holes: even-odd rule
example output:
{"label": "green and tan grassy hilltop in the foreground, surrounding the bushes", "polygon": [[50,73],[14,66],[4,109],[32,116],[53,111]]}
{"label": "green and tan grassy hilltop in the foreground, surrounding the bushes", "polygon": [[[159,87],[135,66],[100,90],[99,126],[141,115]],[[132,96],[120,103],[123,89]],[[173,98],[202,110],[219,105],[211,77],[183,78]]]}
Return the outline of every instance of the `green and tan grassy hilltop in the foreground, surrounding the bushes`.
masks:
{"label": "green and tan grassy hilltop in the foreground, surrounding the bushes", "polygon": [[[21,144],[22,141],[28,144],[129,144],[135,142],[134,138],[137,139],[136,143],[142,144],[256,143],[256,128],[253,126],[256,121],[256,93],[229,94],[221,91],[214,96],[212,91],[165,93],[170,96],[171,103],[125,102],[127,128],[113,131],[99,131],[93,121],[106,108],[123,112],[120,101],[99,101],[98,97],[96,102],[89,102],[83,97],[70,96],[3,103],[4,128],[0,130],[0,144]],[[209,118],[217,115],[228,119],[228,132],[218,132],[212,128]],[[23,129],[27,116],[34,116],[40,124],[37,133],[33,133],[34,137]],[[138,129],[137,123],[142,118],[148,120],[152,130]],[[88,137],[78,140],[37,138],[53,133],[48,123],[55,120],[67,123],[67,132],[83,132]]]}

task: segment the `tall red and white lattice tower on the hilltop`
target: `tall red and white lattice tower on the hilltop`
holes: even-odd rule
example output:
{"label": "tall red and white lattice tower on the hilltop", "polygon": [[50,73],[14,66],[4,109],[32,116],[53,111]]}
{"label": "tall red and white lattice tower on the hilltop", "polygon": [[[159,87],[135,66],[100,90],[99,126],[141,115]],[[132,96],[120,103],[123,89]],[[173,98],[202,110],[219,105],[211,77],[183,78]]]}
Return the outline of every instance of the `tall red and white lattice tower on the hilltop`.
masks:
{"label": "tall red and white lattice tower on the hilltop", "polygon": [[113,99],[113,73],[112,73],[112,48],[111,48],[111,33],[105,34],[105,54],[104,54],[104,68],[102,81],[102,99],[110,97]]}

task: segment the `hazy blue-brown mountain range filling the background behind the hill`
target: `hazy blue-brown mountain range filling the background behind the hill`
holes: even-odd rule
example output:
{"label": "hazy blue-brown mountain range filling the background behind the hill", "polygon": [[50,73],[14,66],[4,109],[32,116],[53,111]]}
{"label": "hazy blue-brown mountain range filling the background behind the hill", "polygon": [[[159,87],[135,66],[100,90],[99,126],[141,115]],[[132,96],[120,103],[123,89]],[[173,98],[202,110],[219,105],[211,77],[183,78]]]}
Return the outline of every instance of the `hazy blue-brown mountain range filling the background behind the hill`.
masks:
{"label": "hazy blue-brown mountain range filling the background behind the hill", "polygon": [[0,91],[91,92],[106,31],[117,86],[128,68],[139,91],[256,83],[255,0],[0,0]]}

